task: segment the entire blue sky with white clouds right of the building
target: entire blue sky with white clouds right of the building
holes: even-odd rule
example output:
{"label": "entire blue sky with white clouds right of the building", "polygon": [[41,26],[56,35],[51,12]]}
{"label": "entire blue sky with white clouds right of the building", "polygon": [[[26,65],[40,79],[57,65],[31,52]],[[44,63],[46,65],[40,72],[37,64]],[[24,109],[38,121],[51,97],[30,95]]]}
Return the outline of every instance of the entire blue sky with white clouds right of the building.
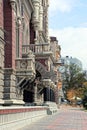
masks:
{"label": "entire blue sky with white clouds right of the building", "polygon": [[49,0],[49,35],[87,70],[87,0]]}

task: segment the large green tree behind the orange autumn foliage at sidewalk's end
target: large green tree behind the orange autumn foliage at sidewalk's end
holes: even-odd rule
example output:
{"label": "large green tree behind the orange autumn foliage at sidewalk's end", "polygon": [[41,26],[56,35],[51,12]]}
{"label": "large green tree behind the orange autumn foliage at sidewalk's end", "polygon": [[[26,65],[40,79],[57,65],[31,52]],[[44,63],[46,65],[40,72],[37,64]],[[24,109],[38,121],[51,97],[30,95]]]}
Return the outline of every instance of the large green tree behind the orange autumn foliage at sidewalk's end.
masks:
{"label": "large green tree behind the orange autumn foliage at sidewalk's end", "polygon": [[[69,91],[76,90],[75,96],[79,95],[79,88],[83,87],[83,83],[86,81],[85,73],[82,72],[76,64],[71,63],[70,65],[65,66],[63,84],[64,91],[69,94]],[[78,90],[78,91],[77,91]],[[71,92],[70,92],[71,93]],[[82,94],[82,92],[81,92]],[[70,95],[69,95],[70,96]]]}

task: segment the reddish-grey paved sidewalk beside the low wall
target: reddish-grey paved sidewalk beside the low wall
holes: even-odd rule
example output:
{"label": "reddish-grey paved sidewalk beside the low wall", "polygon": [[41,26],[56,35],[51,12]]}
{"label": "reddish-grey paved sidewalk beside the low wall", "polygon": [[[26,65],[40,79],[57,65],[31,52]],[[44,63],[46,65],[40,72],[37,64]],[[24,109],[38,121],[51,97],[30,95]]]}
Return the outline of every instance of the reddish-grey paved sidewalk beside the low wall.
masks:
{"label": "reddish-grey paved sidewalk beside the low wall", "polygon": [[87,130],[87,112],[66,106],[20,130]]}

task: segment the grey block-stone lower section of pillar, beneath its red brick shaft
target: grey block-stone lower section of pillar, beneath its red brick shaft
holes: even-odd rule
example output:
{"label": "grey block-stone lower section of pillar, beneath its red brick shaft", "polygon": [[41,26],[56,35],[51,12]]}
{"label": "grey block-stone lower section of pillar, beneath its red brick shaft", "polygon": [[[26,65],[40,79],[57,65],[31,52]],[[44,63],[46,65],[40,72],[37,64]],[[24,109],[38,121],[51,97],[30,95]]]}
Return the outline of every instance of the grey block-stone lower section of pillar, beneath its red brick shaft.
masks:
{"label": "grey block-stone lower section of pillar, beneath its red brick shaft", "polygon": [[5,69],[4,72],[4,105],[22,105],[23,96],[17,95],[16,72],[13,69]]}

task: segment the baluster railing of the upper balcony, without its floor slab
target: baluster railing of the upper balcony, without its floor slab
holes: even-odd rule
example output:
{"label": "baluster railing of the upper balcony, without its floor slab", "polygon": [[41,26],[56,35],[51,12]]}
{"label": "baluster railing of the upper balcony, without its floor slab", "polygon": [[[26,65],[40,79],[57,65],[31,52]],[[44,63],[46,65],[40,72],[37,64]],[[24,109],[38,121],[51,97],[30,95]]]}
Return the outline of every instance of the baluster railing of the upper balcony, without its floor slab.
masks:
{"label": "baluster railing of the upper balcony, without its floor slab", "polygon": [[22,45],[22,54],[28,54],[29,50],[32,50],[34,54],[40,54],[50,51],[49,44],[30,44]]}

